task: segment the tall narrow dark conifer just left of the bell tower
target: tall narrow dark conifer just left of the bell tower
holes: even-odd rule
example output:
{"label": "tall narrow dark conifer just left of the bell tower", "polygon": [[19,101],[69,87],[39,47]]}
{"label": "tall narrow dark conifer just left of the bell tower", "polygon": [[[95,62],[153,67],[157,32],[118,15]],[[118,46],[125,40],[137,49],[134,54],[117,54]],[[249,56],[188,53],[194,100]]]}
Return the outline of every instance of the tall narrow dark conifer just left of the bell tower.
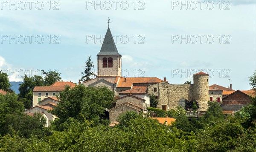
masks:
{"label": "tall narrow dark conifer just left of the bell tower", "polygon": [[88,60],[85,62],[85,64],[86,66],[85,66],[84,72],[81,72],[81,74],[83,75],[80,79],[81,81],[87,81],[87,80],[90,80],[91,77],[96,76],[96,74],[93,73],[94,65],[93,65],[93,62],[91,61],[91,56],[88,57]]}

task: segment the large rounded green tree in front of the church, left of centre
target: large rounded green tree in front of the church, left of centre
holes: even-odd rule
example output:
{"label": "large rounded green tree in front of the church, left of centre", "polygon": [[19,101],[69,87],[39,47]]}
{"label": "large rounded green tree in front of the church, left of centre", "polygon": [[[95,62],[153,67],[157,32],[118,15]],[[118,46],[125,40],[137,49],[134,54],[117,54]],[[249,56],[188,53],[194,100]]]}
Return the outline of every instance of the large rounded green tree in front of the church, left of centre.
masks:
{"label": "large rounded green tree in front of the church, left of centre", "polygon": [[113,92],[106,87],[95,88],[79,85],[70,89],[67,86],[59,94],[61,102],[52,111],[52,114],[58,117],[54,123],[64,123],[71,117],[79,121],[85,118],[99,124],[105,109],[110,109],[111,104],[115,102],[113,96]]}

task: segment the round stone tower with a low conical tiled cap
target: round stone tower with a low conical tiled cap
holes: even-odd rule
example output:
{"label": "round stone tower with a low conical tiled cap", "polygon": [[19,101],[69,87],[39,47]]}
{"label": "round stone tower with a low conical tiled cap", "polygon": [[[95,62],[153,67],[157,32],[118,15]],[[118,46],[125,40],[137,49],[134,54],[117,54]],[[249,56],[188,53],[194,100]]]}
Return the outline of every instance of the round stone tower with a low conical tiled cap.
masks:
{"label": "round stone tower with a low conical tiled cap", "polygon": [[209,75],[199,72],[194,75],[193,98],[199,103],[199,110],[207,110],[209,100]]}

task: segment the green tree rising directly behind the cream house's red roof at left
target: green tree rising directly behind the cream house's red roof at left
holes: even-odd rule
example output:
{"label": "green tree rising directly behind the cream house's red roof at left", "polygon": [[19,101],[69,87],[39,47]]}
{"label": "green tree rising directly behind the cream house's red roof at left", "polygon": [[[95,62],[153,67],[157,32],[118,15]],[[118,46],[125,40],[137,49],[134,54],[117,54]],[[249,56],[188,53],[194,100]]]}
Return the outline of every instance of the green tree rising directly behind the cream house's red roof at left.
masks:
{"label": "green tree rising directly behind the cream house's red roof at left", "polygon": [[56,71],[45,72],[44,70],[42,70],[42,72],[45,75],[44,77],[45,86],[50,86],[52,85],[52,83],[55,83],[56,81],[61,81],[61,73],[58,73]]}

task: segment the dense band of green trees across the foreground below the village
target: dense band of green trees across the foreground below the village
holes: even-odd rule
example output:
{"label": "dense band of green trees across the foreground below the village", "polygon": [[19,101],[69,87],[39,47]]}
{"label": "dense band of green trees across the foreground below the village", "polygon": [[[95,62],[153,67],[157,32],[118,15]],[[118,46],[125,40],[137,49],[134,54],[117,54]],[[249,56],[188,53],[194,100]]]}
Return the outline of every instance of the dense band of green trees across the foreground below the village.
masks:
{"label": "dense band of green trees across the foreground below the village", "polygon": [[[256,73],[250,78],[256,88]],[[15,93],[0,95],[0,151],[3,152],[255,152],[256,98],[236,112],[221,113],[218,103],[209,103],[199,119],[186,117],[180,107],[169,112],[151,108],[158,115],[174,117],[171,126],[151,118],[125,112],[119,124],[110,127],[104,117],[113,92],[108,88],[79,85],[60,93],[61,102],[52,111],[58,116],[52,125],[38,114],[26,116]]]}

